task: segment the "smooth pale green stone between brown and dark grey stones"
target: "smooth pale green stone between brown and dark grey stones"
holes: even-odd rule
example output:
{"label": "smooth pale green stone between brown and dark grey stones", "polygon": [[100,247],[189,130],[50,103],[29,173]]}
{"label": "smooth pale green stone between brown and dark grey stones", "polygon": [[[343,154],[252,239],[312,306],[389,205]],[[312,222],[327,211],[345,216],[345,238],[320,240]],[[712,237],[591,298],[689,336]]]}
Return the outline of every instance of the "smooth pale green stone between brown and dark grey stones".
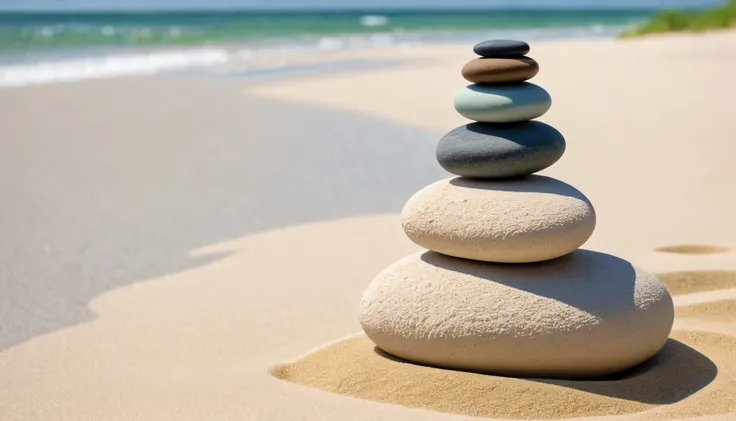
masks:
{"label": "smooth pale green stone between brown and dark grey stones", "polygon": [[468,85],[455,95],[455,110],[463,117],[488,123],[531,120],[546,113],[552,98],[528,82],[510,85]]}

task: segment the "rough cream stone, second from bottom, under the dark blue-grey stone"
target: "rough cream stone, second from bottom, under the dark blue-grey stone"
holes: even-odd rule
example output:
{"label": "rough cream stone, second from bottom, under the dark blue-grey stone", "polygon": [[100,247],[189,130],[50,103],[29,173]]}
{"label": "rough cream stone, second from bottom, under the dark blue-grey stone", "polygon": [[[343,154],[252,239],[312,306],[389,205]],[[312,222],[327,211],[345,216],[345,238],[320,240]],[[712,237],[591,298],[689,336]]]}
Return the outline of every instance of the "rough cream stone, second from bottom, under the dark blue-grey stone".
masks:
{"label": "rough cream stone, second from bottom, under the dark blue-grey stone", "polygon": [[554,178],[458,177],[412,196],[401,225],[412,241],[442,254],[529,263],[582,246],[595,229],[595,211],[585,195]]}

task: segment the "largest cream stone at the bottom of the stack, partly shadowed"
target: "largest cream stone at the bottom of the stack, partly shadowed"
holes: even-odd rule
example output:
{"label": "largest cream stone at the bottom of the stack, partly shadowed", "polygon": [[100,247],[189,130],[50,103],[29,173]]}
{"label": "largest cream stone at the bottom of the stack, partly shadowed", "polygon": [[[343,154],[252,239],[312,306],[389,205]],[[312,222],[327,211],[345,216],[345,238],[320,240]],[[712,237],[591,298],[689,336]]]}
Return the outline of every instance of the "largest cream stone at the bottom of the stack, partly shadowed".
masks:
{"label": "largest cream stone at the bottom of the stack, partly shadowed", "polygon": [[379,274],[360,303],[363,330],[389,354],[513,376],[624,370],[664,345],[673,320],[659,279],[587,250],[528,265],[418,253]]}

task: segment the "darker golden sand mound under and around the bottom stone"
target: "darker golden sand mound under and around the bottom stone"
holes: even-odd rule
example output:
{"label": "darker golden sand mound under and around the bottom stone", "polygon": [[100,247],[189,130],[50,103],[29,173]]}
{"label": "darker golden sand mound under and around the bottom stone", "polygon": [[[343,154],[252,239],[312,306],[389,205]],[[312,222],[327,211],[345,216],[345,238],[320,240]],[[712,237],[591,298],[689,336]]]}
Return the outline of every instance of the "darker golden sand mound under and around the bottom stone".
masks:
{"label": "darker golden sand mound under and around the bottom stone", "polygon": [[734,397],[724,396],[736,387],[736,338],[695,332],[672,336],[651,360],[595,381],[517,379],[419,366],[383,353],[364,335],[271,372],[282,380],[332,393],[490,418],[555,419],[647,411],[642,416],[653,419],[728,411]]}

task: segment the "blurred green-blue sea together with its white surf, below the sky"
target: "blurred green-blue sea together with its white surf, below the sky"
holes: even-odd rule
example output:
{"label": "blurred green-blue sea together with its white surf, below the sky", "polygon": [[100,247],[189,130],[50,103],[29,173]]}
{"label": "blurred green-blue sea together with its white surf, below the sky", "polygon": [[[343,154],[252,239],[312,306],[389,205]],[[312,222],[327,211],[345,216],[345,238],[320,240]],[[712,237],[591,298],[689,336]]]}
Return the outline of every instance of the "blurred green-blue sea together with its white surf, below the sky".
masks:
{"label": "blurred green-blue sea together with its white surf, below the sky", "polygon": [[[0,13],[0,87],[288,66],[304,52],[615,36],[650,10]],[[258,67],[258,66],[256,66]]]}

